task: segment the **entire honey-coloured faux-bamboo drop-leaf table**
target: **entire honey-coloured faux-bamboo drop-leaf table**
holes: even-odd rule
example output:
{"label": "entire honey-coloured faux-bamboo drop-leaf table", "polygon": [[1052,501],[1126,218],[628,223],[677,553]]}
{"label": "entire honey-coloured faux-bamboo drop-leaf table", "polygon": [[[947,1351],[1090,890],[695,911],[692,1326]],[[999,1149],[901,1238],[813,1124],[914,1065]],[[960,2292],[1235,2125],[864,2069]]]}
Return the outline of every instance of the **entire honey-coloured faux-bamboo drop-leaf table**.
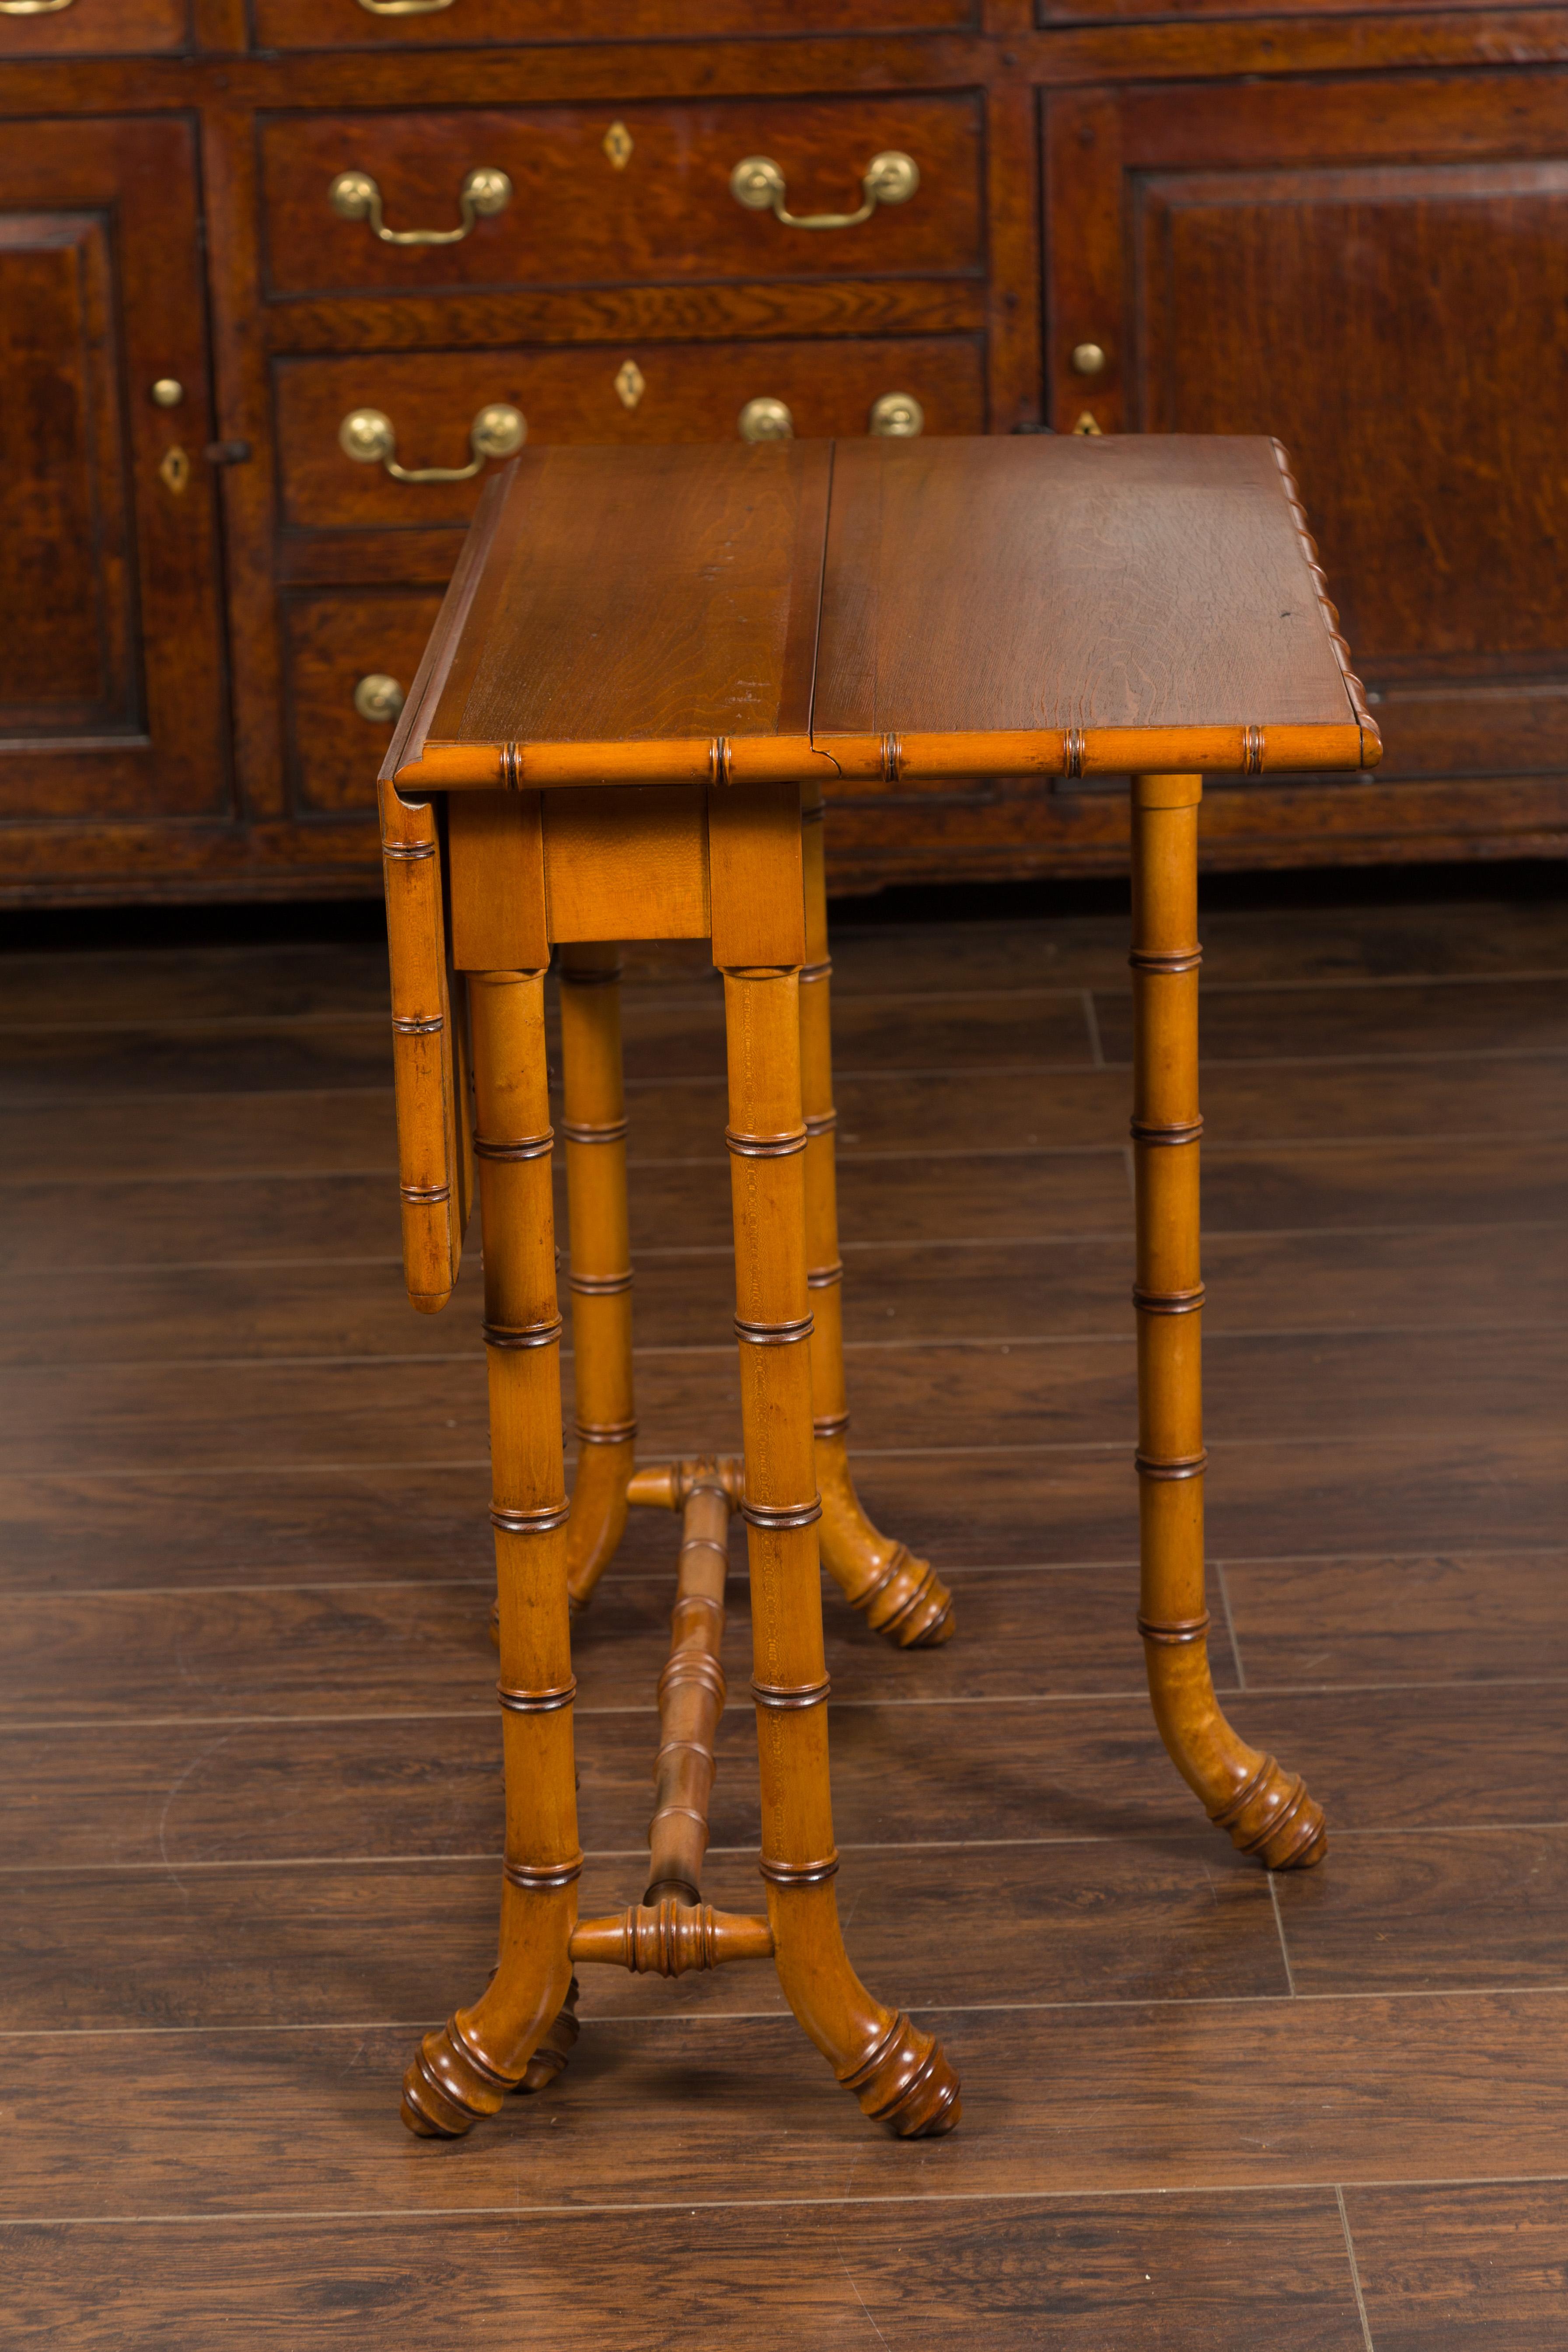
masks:
{"label": "entire honey-coloured faux-bamboo drop-leaf table", "polygon": [[[1197,821],[1201,767],[1359,769],[1378,743],[1274,445],[1105,449],[543,452],[475,520],[381,776],[416,1308],[451,1296],[475,1171],[484,1225],[505,1750],[501,1957],[409,2067],[418,2133],[458,2136],[552,2082],[590,1962],[679,1976],[771,1957],[870,2117],[898,2136],[959,2117],[940,2044],[860,1985],[835,1903],[818,1562],[886,1639],[954,1630],[936,1571],[863,1512],[846,1451],[820,818],[867,724],[889,788],[910,762],[966,774],[999,736],[1060,774],[1112,739],[1161,762],[1131,781],[1138,1628],[1161,1738],[1208,1816],[1274,1870],[1326,1849],[1321,1809],[1234,1733],[1208,1670]],[[710,938],[724,974],[745,1454],[637,1468],[614,943],[663,936]],[[637,1505],[682,1519],[649,1875],[625,1912],[578,1919],[569,1618]],[[731,1515],[752,1583],[757,1915],[703,1903]]]}

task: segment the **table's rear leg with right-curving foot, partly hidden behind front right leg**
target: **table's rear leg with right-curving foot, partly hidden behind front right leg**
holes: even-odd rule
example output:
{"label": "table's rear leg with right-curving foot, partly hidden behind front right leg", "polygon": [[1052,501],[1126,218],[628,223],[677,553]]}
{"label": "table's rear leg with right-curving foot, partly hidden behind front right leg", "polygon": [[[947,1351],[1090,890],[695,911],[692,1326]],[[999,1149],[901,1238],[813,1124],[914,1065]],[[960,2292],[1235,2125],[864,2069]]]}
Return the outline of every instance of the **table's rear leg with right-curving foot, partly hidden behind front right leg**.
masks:
{"label": "table's rear leg with right-curving foot, partly hidden behind front right leg", "polygon": [[849,1472],[849,1402],[844,1392],[844,1265],[835,1174],[832,1014],[827,962],[827,877],[823,868],[823,795],[802,788],[802,866],[806,882],[806,964],[799,976],[799,1061],[806,1115],[806,1284],[811,1289],[811,1392],[816,1397],[816,1477],[823,1494],[823,1562],[844,1599],[875,1632],[900,1649],[952,1639],[952,1595],[926,1559],[867,1519]]}

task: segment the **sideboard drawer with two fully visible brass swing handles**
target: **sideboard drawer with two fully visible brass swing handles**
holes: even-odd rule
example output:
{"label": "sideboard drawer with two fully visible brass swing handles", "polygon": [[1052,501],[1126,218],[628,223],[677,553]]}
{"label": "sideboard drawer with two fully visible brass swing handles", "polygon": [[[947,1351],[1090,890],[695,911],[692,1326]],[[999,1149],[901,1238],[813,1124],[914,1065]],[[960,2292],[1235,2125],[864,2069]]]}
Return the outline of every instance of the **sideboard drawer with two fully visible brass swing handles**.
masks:
{"label": "sideboard drawer with two fully visible brass swing handles", "polygon": [[[966,94],[273,115],[268,292],[980,273],[980,146]],[[886,174],[844,228],[792,228],[731,191],[736,165],[769,158],[783,209],[844,219],[879,155],[907,155],[919,183]]]}

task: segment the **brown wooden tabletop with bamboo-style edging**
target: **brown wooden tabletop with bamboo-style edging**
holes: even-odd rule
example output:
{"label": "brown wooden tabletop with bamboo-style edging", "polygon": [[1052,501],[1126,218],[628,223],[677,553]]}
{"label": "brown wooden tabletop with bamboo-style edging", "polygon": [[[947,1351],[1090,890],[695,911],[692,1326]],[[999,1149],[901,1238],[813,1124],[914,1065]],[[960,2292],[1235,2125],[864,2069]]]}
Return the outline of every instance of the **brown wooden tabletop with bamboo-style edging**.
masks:
{"label": "brown wooden tabletop with bamboo-style edging", "polygon": [[527,449],[383,776],[1363,769],[1284,449],[1117,435]]}

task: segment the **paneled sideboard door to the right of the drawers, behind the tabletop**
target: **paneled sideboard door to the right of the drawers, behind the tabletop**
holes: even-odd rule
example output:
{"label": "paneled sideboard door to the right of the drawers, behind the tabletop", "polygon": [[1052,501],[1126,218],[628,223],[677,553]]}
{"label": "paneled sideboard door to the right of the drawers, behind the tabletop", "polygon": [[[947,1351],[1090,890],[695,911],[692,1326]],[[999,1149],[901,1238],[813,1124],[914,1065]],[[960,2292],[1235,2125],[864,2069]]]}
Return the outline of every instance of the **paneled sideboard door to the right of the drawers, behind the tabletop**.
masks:
{"label": "paneled sideboard door to the right of the drawers, behind the tabletop", "polygon": [[1514,830],[1568,776],[1566,125],[1540,68],[1046,103],[1051,421],[1274,433],[1380,776]]}

